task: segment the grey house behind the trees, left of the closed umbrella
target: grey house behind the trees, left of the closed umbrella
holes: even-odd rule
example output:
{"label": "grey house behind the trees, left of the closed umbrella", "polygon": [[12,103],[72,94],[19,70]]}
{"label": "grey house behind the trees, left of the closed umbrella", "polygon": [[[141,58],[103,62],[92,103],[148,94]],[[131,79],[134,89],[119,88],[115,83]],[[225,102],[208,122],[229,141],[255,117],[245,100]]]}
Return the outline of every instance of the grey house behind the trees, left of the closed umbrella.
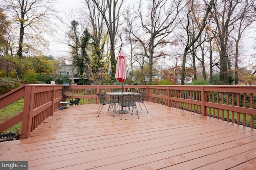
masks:
{"label": "grey house behind the trees, left of the closed umbrella", "polygon": [[[63,64],[62,68],[56,70],[56,74],[69,77],[72,82],[74,80],[74,84],[80,84],[81,76],[76,67],[74,67],[72,64]],[[86,84],[90,84],[90,80],[87,75],[84,77],[84,80],[86,80]]]}

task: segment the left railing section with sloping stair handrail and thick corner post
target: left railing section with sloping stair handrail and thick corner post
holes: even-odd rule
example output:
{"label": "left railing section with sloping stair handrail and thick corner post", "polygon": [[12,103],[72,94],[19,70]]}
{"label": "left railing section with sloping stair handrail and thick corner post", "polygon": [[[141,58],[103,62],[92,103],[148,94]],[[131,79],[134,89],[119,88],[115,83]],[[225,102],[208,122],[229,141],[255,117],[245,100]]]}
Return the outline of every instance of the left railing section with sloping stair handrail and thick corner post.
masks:
{"label": "left railing section with sloping stair handrail and thick corner post", "polygon": [[0,132],[22,121],[20,138],[30,137],[30,133],[59,108],[62,92],[62,85],[22,84],[0,96],[0,109],[24,98],[23,111],[0,124]]}

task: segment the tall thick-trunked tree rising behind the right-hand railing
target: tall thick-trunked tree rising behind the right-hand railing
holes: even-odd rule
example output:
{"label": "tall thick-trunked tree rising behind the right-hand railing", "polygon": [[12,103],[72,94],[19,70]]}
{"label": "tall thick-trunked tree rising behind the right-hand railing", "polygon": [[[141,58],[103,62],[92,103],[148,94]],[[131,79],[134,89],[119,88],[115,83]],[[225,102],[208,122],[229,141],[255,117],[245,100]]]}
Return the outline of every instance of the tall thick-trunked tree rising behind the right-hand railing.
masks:
{"label": "tall thick-trunked tree rising behind the right-hand railing", "polygon": [[[230,48],[232,47],[230,37],[235,34],[235,27],[236,25],[240,25],[239,22],[241,21],[241,18],[244,18],[243,13],[246,9],[244,8],[244,2],[245,0],[221,0],[214,4],[212,16],[217,26],[216,40],[219,46],[221,85],[229,85],[231,83],[231,75],[229,71],[229,57],[231,54],[228,53],[228,51],[231,51]],[[242,25],[243,24],[244,23],[242,23]]]}

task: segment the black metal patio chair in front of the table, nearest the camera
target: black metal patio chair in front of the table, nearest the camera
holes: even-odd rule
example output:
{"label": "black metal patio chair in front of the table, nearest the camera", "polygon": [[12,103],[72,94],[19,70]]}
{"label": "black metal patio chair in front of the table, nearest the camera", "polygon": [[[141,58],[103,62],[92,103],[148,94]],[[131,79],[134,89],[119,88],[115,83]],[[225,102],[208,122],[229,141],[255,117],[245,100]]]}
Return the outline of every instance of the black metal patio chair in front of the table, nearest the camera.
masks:
{"label": "black metal patio chair in front of the table, nearest the camera", "polygon": [[123,107],[128,107],[129,109],[130,109],[130,107],[132,107],[132,112],[133,112],[133,109],[135,109],[136,113],[138,115],[138,119],[139,119],[138,109],[137,109],[137,106],[136,106],[137,97],[138,97],[138,95],[134,95],[134,94],[118,96],[118,105],[119,105],[118,113],[121,114],[121,119],[120,120],[122,120],[122,109],[123,109]]}

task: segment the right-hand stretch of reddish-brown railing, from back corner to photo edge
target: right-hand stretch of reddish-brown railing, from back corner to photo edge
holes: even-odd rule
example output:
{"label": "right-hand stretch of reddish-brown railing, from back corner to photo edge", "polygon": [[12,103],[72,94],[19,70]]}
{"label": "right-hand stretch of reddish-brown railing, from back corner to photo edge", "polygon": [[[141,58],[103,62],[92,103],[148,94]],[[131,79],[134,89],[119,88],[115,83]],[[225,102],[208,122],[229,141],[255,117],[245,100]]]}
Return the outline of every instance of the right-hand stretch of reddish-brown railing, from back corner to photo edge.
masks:
{"label": "right-hand stretch of reddish-brown railing, from back corner to photo edge", "polygon": [[256,86],[149,86],[148,91],[151,102],[256,125]]}

